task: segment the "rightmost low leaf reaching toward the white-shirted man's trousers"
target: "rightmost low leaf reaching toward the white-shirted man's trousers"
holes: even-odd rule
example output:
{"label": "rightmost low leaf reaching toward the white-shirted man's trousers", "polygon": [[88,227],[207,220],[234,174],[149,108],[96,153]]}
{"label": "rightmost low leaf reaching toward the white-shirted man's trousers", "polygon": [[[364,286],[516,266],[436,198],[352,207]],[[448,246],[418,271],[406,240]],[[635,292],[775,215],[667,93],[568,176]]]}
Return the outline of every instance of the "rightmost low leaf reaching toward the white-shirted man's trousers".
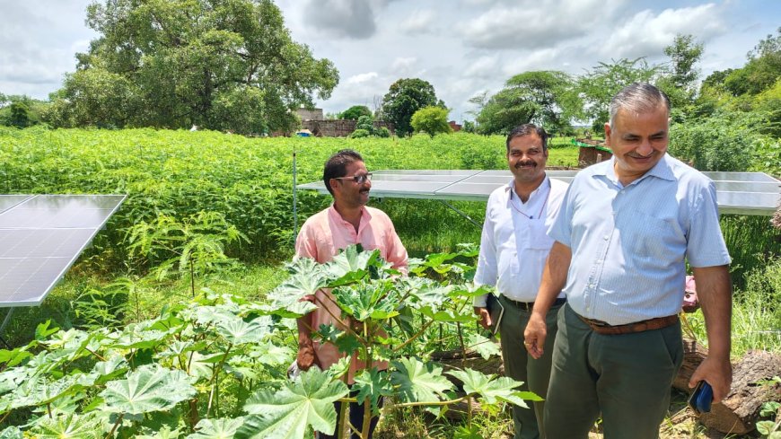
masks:
{"label": "rightmost low leaf reaching toward the white-shirted man's trousers", "polygon": [[463,389],[467,394],[478,394],[487,404],[510,402],[528,408],[524,399],[542,400],[531,392],[518,391],[522,382],[506,376],[496,378],[496,375],[486,375],[469,368],[463,371],[450,371],[448,374],[463,382]]}

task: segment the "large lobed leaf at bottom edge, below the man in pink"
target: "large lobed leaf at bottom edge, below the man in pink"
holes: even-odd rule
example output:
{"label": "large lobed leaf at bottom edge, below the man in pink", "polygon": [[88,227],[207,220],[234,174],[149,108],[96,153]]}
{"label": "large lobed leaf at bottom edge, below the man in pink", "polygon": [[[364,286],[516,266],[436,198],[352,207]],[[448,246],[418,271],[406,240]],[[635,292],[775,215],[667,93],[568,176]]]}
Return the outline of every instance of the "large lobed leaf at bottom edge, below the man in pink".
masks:
{"label": "large lobed leaf at bottom edge, below the man in pink", "polygon": [[250,413],[237,438],[303,438],[307,426],[332,435],[337,424],[334,401],[348,393],[344,382],[332,381],[317,367],[285,382],[276,392],[255,393],[244,405]]}

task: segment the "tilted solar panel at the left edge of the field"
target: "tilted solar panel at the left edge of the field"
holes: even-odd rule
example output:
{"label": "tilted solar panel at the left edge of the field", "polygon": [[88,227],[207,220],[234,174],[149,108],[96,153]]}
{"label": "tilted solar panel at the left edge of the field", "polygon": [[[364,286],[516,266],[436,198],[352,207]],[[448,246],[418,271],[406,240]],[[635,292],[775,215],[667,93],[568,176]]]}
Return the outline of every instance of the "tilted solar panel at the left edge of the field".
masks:
{"label": "tilted solar panel at the left edge of the field", "polygon": [[0,195],[0,307],[38,305],[124,195]]}

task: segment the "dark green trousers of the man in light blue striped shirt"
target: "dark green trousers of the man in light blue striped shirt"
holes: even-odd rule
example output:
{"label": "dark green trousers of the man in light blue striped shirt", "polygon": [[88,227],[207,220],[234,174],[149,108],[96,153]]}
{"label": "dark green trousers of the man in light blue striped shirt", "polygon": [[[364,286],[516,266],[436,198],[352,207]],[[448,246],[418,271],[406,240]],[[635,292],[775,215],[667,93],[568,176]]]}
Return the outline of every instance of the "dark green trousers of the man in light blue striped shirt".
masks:
{"label": "dark green trousers of the man in light blue striped shirt", "polygon": [[548,437],[586,439],[601,414],[605,439],[658,438],[682,361],[680,322],[601,335],[565,305],[545,406]]}

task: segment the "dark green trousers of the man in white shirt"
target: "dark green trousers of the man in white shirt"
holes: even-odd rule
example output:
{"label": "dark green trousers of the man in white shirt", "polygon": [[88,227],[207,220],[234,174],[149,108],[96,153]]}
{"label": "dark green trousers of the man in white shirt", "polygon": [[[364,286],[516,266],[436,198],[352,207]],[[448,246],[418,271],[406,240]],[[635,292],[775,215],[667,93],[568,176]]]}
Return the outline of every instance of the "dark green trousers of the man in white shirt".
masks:
{"label": "dark green trousers of the man in white shirt", "polygon": [[[502,356],[505,363],[505,375],[523,382],[522,391],[533,391],[545,398],[550,378],[550,360],[553,353],[553,341],[556,338],[557,313],[562,305],[551,307],[546,316],[548,338],[545,341],[545,355],[535,360],[523,346],[523,330],[529,323],[531,312],[520,308],[505,296],[499,296],[505,307],[505,315],[499,324],[502,343]],[[513,424],[515,439],[538,439],[546,437],[542,428],[542,413],[545,401],[534,402],[533,409],[513,406]],[[554,438],[555,436],[548,435]]]}

